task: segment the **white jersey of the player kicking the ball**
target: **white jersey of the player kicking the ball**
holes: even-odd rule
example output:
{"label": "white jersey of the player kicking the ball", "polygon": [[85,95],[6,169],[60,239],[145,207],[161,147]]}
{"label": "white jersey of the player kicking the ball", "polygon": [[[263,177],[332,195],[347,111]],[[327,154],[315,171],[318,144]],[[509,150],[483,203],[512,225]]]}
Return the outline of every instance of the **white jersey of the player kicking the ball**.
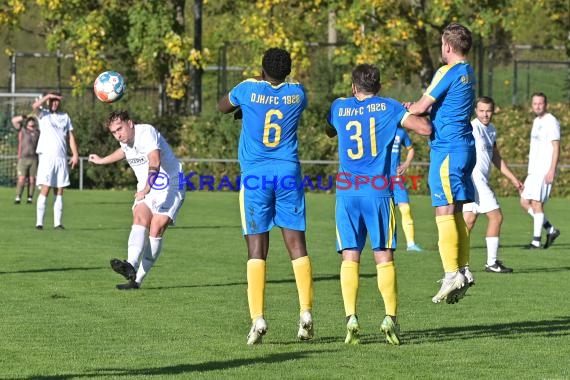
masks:
{"label": "white jersey of the player kicking the ball", "polygon": [[[178,189],[178,176],[182,172],[182,164],[166,142],[164,137],[152,125],[135,124],[135,138],[132,146],[120,143],[121,149],[125,152],[127,162],[135,172],[137,177],[137,191],[141,191],[146,186],[148,180],[148,154],[153,150],[160,151],[160,169],[157,181],[162,184],[169,182],[167,186],[171,189]],[[168,176],[164,178],[163,175]],[[153,190],[157,190],[158,182],[155,182]]]}

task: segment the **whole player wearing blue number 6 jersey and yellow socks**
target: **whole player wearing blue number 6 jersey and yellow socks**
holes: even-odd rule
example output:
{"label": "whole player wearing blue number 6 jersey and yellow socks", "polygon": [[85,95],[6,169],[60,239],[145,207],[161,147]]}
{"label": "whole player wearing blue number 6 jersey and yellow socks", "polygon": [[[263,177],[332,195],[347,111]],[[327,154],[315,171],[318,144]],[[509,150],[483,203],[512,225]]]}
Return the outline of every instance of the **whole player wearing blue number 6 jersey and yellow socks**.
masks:
{"label": "whole player wearing blue number 6 jersey and yellow socks", "polygon": [[[238,148],[241,178],[259,179],[257,186],[242,186],[240,190],[252,321],[247,344],[261,343],[267,332],[265,277],[269,231],[273,226],[281,227],[295,274],[300,304],[297,337],[313,337],[312,267],[305,242],[305,194],[299,186],[302,179],[297,153],[297,129],[307,98],[301,84],[284,81],[290,73],[289,52],[271,48],[263,55],[261,77],[239,83],[218,103],[223,113],[242,113]],[[281,186],[284,178],[297,186]]]}

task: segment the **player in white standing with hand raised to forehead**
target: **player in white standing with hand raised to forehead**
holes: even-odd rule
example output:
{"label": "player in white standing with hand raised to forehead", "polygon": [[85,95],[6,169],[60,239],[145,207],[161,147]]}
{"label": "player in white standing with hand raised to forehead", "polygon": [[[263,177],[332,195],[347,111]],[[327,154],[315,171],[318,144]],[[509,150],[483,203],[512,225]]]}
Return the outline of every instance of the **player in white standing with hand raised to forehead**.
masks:
{"label": "player in white standing with hand raised to forehead", "polygon": [[[62,96],[56,91],[50,91],[32,105],[39,119],[40,138],[36,153],[38,154],[38,173],[36,182],[40,195],[36,203],[36,229],[44,227],[46,199],[51,188],[54,189],[53,225],[57,230],[63,230],[63,189],[69,186],[69,169],[75,168],[79,162],[77,143],[73,135],[71,118],[59,110]],[[47,108],[42,107],[47,102]],[[71,149],[71,159],[67,161],[67,147]]]}

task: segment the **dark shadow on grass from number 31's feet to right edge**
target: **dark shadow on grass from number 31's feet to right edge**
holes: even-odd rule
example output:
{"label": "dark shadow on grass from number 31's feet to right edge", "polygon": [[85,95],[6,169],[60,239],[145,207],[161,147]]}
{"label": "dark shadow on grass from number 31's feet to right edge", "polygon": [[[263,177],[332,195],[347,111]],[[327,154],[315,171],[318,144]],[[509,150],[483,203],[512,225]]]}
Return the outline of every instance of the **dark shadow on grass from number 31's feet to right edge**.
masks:
{"label": "dark shadow on grass from number 31's feet to right edge", "polygon": [[570,317],[542,321],[520,321],[491,325],[441,327],[402,332],[403,344],[425,344],[474,338],[520,339],[524,337],[570,336]]}

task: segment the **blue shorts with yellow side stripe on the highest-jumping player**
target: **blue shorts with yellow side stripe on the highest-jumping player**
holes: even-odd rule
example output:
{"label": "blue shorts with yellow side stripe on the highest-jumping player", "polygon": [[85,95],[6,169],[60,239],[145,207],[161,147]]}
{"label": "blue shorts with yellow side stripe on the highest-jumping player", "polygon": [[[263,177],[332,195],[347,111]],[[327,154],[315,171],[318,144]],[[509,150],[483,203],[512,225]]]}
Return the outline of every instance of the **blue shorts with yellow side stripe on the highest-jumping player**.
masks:
{"label": "blue shorts with yellow side stripe on the highest-jumping player", "polygon": [[475,162],[475,150],[430,152],[428,183],[432,206],[472,202],[475,199],[475,189],[471,180]]}

